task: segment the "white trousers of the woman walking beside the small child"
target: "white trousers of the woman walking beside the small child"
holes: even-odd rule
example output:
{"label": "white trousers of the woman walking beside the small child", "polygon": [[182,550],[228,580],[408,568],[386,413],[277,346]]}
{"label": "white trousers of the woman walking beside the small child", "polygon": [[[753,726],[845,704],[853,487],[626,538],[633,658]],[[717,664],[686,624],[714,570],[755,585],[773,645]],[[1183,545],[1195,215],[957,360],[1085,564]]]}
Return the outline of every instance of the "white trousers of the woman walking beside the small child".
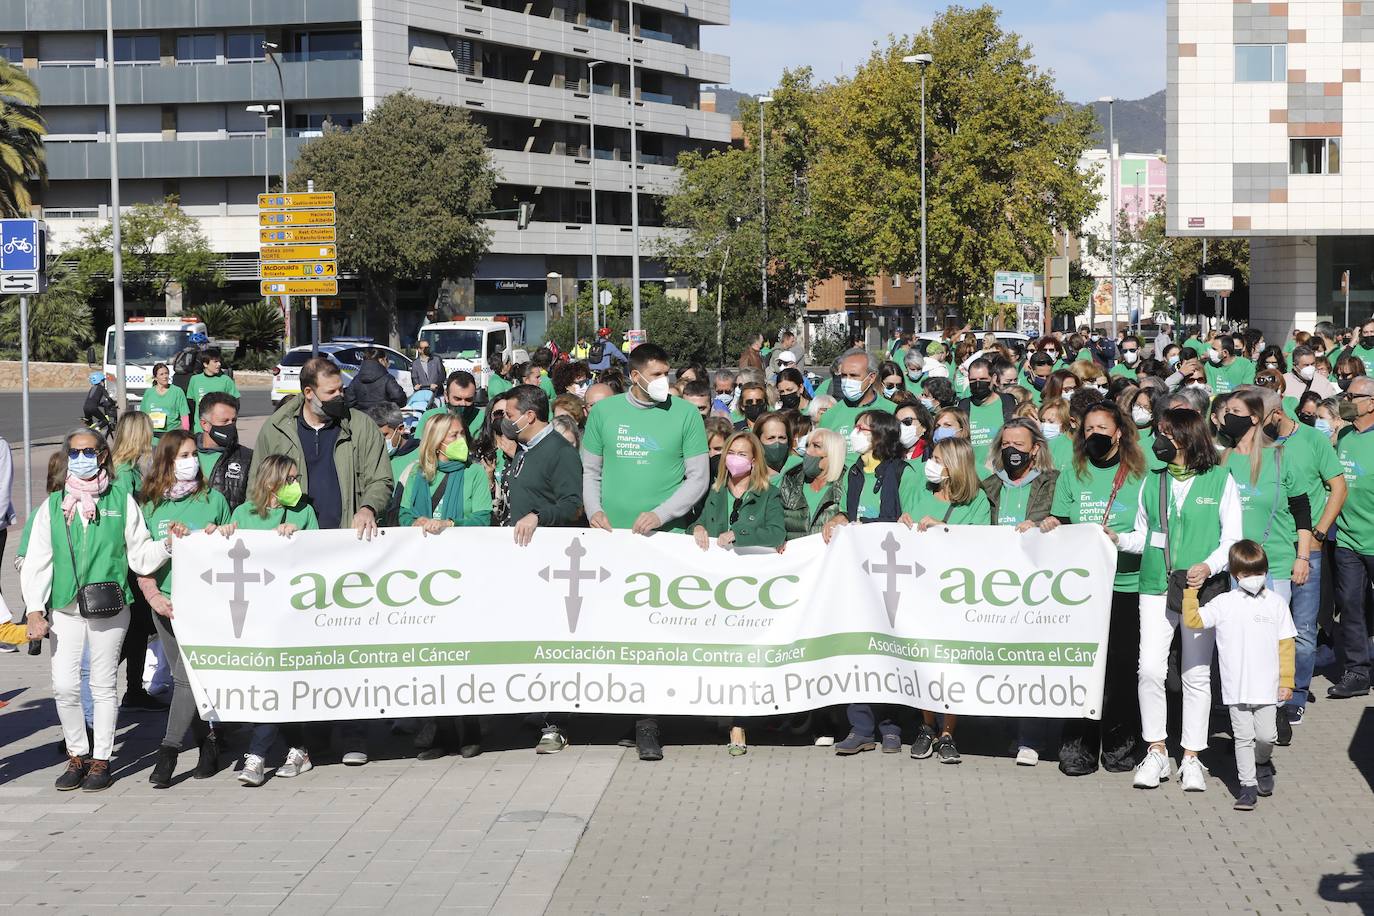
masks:
{"label": "white trousers of the woman walking beside the small child", "polygon": [[[1140,736],[1149,744],[1162,744],[1168,737],[1168,705],[1164,676],[1169,666],[1169,644],[1179,626],[1179,615],[1165,610],[1164,595],[1140,596]],[[1215,630],[1183,628],[1183,750],[1205,751],[1208,724],[1212,718],[1212,651]]]}

